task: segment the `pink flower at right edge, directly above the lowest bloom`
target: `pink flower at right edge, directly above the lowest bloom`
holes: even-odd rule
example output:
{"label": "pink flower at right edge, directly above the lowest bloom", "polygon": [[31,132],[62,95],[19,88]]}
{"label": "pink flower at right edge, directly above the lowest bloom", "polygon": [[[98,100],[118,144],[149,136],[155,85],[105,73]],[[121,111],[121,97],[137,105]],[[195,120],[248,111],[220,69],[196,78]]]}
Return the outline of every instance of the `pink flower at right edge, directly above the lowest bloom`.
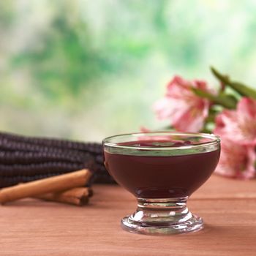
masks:
{"label": "pink flower at right edge, directly above the lowest bloom", "polygon": [[256,100],[242,98],[236,110],[223,110],[214,133],[242,144],[256,145]]}

